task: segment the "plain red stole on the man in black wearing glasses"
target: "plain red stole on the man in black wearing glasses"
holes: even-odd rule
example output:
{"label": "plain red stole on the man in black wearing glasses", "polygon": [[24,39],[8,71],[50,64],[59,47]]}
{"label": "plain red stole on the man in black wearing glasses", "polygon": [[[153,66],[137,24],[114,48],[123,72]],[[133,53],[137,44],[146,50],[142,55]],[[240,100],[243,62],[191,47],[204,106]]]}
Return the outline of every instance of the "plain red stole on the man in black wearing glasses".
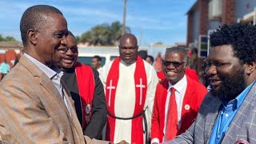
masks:
{"label": "plain red stole on the man in black wearing glasses", "polygon": [[82,107],[82,128],[86,128],[94,99],[94,72],[90,66],[83,65],[80,62],[76,62],[74,67]]}

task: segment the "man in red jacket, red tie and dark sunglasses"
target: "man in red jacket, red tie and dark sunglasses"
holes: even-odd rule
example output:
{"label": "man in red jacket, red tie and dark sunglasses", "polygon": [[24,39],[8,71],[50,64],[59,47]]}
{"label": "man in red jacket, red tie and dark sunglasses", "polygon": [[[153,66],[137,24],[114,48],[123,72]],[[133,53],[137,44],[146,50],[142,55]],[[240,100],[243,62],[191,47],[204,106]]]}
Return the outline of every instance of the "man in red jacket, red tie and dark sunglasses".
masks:
{"label": "man in red jacket, red tie and dark sunglasses", "polygon": [[188,55],[185,49],[166,49],[162,70],[166,78],[157,86],[151,126],[151,143],[157,144],[182,134],[194,121],[206,87],[186,75]]}

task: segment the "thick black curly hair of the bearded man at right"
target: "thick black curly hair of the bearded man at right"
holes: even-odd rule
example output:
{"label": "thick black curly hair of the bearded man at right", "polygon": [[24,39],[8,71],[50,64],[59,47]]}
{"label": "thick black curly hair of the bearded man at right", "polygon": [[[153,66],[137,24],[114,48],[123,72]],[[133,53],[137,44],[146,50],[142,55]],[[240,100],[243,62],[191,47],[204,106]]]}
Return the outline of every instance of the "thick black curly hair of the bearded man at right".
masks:
{"label": "thick black curly hair of the bearded man at right", "polygon": [[210,46],[230,45],[234,56],[241,62],[255,62],[256,59],[256,26],[234,23],[224,25],[210,34]]}

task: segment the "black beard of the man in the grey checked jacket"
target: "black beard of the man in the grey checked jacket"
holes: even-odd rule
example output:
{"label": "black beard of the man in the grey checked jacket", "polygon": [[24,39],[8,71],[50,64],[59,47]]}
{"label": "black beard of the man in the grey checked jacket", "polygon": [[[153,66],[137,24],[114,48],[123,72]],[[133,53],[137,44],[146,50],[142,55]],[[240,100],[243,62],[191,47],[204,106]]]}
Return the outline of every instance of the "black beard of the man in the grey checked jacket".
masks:
{"label": "black beard of the man in the grey checked jacket", "polygon": [[220,77],[220,79],[222,80],[220,88],[218,90],[212,89],[213,94],[220,99],[230,102],[246,89],[246,79],[242,68],[233,74]]}

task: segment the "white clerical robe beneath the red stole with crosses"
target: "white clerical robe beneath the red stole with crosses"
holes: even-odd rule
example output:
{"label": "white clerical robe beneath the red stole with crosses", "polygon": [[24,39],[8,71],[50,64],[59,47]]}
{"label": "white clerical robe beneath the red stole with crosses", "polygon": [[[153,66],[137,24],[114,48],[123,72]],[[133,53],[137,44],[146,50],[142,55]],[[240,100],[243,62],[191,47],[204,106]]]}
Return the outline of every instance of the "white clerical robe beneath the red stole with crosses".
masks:
{"label": "white clerical robe beneath the red stole with crosses", "polygon": [[[147,90],[146,90],[146,102],[144,110],[146,109],[146,122],[148,132],[151,127],[151,117],[154,105],[154,93],[158,84],[158,76],[154,67],[148,62],[144,61],[147,78]],[[100,78],[102,80],[104,90],[106,90],[106,78],[109,73],[110,67],[113,61],[100,70]],[[132,118],[134,114],[135,105],[135,86],[134,86],[134,71],[136,63],[134,62],[130,66],[121,62],[119,65],[119,79],[118,86],[116,88],[115,102],[114,102],[114,113],[116,117],[120,118]],[[145,135],[144,135],[145,139]],[[120,120],[115,119],[115,130],[114,130],[114,142],[120,142],[126,140],[131,141],[131,120]],[[145,141],[143,141],[145,142]]]}

